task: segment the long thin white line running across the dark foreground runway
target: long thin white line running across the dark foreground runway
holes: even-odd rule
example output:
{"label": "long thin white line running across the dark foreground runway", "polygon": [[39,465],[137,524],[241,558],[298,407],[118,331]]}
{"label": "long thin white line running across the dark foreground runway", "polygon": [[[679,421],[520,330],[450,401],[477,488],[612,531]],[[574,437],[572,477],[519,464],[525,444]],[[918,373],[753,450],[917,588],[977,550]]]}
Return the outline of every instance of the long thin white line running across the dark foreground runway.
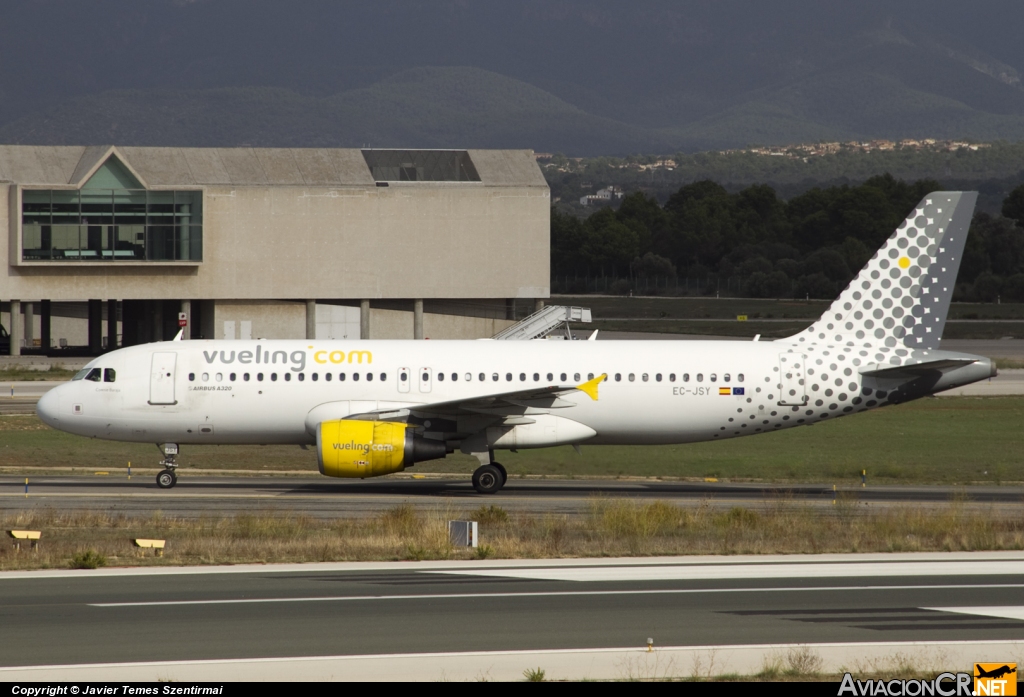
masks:
{"label": "long thin white line running across the dark foreground runway", "polygon": [[[819,585],[778,589],[662,589],[648,591],[539,591],[535,593],[450,593],[406,596],[321,596],[312,598],[238,598],[225,600],[168,600],[137,603],[89,603],[94,608],[163,607],[179,605],[247,605],[264,603],[339,603],[370,600],[472,600],[476,598],[558,598],[566,596],[665,596],[709,593],[812,593],[815,591],[928,591],[954,589],[1024,589],[1024,583],[981,583],[958,585]],[[956,612],[949,608],[925,608]],[[1021,608],[1024,612],[1024,608]],[[1021,619],[1024,619],[1022,615]]]}

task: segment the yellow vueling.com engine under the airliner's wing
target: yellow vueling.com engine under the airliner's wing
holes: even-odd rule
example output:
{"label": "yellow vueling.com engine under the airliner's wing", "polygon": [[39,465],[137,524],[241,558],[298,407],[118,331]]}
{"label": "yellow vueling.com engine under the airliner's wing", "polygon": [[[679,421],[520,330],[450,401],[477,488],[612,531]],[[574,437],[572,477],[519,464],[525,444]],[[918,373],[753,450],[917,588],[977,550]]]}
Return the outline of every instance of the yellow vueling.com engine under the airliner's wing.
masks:
{"label": "yellow vueling.com engine under the airliner's wing", "polygon": [[328,477],[379,477],[446,454],[444,443],[417,435],[407,424],[340,420],[316,427],[316,460]]}

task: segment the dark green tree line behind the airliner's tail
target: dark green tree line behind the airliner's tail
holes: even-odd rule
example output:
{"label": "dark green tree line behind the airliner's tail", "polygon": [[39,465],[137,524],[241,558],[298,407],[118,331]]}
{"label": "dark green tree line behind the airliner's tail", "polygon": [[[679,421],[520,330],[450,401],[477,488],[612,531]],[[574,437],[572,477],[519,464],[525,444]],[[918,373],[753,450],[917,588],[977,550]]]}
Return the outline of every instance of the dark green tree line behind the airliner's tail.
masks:
{"label": "dark green tree line behind the airliner's tail", "polygon": [[[913,207],[942,189],[934,179],[885,174],[788,201],[766,184],[730,193],[710,180],[682,186],[664,206],[636,191],[586,219],[552,209],[551,270],[570,279],[568,291],[581,276],[620,278],[625,291],[685,275],[738,277],[753,298],[834,298]],[[975,213],[954,299],[1024,302],[1024,184],[1001,213]]]}

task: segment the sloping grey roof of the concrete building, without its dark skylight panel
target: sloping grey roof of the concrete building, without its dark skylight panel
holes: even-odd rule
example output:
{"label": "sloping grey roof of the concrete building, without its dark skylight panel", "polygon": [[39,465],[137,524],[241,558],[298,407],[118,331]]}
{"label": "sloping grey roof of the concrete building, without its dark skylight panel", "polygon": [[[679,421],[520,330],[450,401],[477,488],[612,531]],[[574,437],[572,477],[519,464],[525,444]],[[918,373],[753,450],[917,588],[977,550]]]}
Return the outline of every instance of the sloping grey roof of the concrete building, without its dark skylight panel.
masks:
{"label": "sloping grey roof of the concrete building, without its dark skylight panel", "polygon": [[[466,151],[484,185],[548,185],[532,150]],[[375,185],[362,150],[331,147],[0,145],[0,181],[79,187],[112,155],[146,187]]]}

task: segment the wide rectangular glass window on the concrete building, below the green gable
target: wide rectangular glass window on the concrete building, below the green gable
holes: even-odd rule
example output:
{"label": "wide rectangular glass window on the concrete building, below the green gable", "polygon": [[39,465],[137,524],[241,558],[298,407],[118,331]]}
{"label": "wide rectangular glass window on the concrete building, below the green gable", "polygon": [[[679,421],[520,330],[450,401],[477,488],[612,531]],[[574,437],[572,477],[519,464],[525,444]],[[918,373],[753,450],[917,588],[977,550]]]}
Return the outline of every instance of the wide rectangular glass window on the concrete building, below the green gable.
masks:
{"label": "wide rectangular glass window on the concrete building, below the green gable", "polygon": [[25,261],[202,261],[203,192],[23,189]]}

